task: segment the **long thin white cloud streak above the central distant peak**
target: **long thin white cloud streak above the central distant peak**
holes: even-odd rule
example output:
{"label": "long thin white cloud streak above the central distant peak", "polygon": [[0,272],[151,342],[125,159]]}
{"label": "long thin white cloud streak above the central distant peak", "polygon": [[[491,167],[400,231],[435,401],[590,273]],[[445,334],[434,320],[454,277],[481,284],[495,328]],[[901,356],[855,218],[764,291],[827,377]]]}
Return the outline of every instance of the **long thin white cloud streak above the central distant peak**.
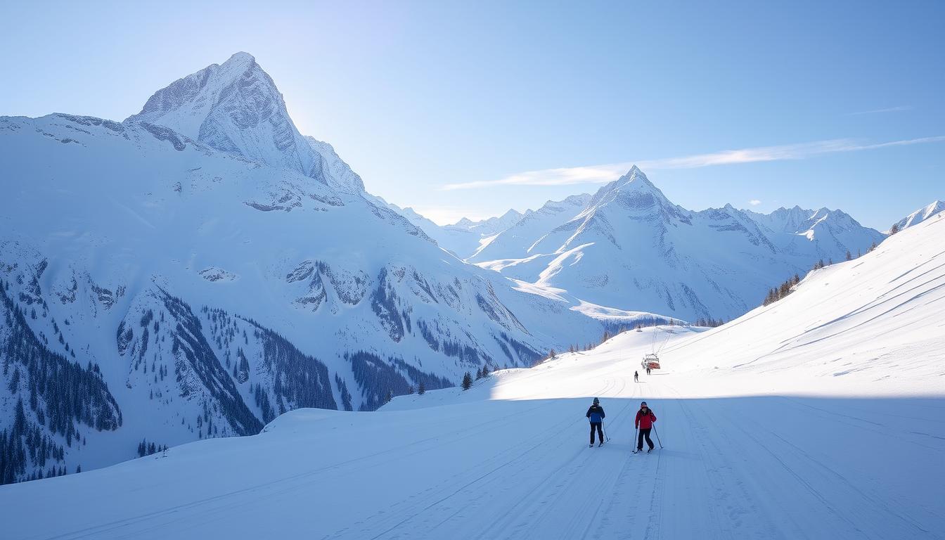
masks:
{"label": "long thin white cloud streak above the central distant peak", "polygon": [[830,139],[826,141],[816,141],[813,143],[799,143],[775,147],[721,150],[708,154],[696,154],[692,156],[682,156],[660,160],[530,170],[512,174],[498,180],[447,183],[441,186],[440,189],[452,191],[456,189],[476,189],[480,187],[494,187],[498,185],[571,185],[578,183],[607,183],[620,178],[632,165],[634,165],[634,163],[644,170],[699,168],[714,165],[738,165],[783,160],[802,160],[817,155],[831,154],[836,152],[852,152],[877,148],[904,147],[909,145],[937,143],[942,141],[945,141],[945,135],[873,144],[864,144],[853,139]]}

